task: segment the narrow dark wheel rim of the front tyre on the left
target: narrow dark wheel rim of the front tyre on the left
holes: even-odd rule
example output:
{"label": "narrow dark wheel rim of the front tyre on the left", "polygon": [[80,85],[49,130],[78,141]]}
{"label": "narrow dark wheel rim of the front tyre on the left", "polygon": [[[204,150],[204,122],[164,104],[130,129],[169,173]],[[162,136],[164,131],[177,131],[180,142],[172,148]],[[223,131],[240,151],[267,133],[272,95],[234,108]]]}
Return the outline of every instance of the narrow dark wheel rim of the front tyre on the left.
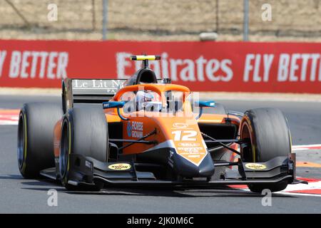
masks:
{"label": "narrow dark wheel rim of the front tyre on the left", "polygon": [[68,146],[68,123],[63,123],[63,130],[61,133],[61,148],[59,156],[59,170],[61,178],[63,179],[66,176],[67,166],[68,166],[68,155],[69,155],[69,146]]}

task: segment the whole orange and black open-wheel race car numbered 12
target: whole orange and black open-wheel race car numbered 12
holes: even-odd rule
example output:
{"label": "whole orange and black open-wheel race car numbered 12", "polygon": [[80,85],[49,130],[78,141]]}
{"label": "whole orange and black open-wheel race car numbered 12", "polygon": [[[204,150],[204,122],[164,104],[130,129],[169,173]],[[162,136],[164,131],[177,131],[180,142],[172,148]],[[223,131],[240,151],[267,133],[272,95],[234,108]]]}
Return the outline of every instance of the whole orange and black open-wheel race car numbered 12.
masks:
{"label": "whole orange and black open-wheel race car numbered 12", "polygon": [[302,182],[280,110],[239,113],[199,100],[189,88],[156,77],[148,61],[160,58],[131,56],[142,67],[128,80],[66,78],[61,105],[24,104],[21,175],[76,191],[248,185],[252,192],[276,192]]}

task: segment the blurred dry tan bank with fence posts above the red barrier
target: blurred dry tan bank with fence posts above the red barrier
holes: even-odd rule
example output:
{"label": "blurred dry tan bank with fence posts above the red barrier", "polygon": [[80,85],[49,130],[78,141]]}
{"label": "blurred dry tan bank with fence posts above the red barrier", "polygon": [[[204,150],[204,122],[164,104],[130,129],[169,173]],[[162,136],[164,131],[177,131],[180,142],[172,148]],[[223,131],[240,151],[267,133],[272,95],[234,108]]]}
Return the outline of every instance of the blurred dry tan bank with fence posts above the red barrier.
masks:
{"label": "blurred dry tan bank with fence posts above the red barrier", "polygon": [[197,40],[215,31],[242,40],[247,25],[250,41],[321,35],[321,0],[2,0],[0,14],[0,38]]}

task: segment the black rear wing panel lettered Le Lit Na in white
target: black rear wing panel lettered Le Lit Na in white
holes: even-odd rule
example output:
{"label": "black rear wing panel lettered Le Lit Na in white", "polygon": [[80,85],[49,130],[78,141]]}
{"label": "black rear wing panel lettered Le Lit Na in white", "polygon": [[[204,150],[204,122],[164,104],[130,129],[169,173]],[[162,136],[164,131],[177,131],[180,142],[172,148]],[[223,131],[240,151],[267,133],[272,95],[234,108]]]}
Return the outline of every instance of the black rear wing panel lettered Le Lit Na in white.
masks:
{"label": "black rear wing panel lettered Le Lit Na in white", "polygon": [[75,79],[62,82],[63,111],[73,108],[74,103],[103,103],[113,98],[123,88],[126,79]]}

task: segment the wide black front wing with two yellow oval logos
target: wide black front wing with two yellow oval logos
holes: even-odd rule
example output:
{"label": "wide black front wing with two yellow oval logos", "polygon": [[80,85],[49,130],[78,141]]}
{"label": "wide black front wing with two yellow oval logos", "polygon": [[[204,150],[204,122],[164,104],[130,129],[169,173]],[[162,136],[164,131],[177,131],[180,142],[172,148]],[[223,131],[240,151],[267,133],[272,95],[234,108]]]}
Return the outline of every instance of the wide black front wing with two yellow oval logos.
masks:
{"label": "wide black front wing with two yellow oval logos", "polygon": [[[180,187],[218,187],[220,185],[276,184],[287,181],[289,184],[302,183],[295,179],[295,154],[288,157],[275,157],[267,162],[214,162],[215,167],[234,166],[220,180],[198,180],[178,178],[178,180],[157,180],[153,172],[140,172],[140,166],[157,166],[157,164],[134,162],[100,162],[91,157],[70,155],[70,178],[68,184],[94,185],[103,182],[105,185],[121,186],[180,186]],[[263,168],[264,167],[264,168]],[[57,178],[54,168],[41,171],[41,175]]]}

